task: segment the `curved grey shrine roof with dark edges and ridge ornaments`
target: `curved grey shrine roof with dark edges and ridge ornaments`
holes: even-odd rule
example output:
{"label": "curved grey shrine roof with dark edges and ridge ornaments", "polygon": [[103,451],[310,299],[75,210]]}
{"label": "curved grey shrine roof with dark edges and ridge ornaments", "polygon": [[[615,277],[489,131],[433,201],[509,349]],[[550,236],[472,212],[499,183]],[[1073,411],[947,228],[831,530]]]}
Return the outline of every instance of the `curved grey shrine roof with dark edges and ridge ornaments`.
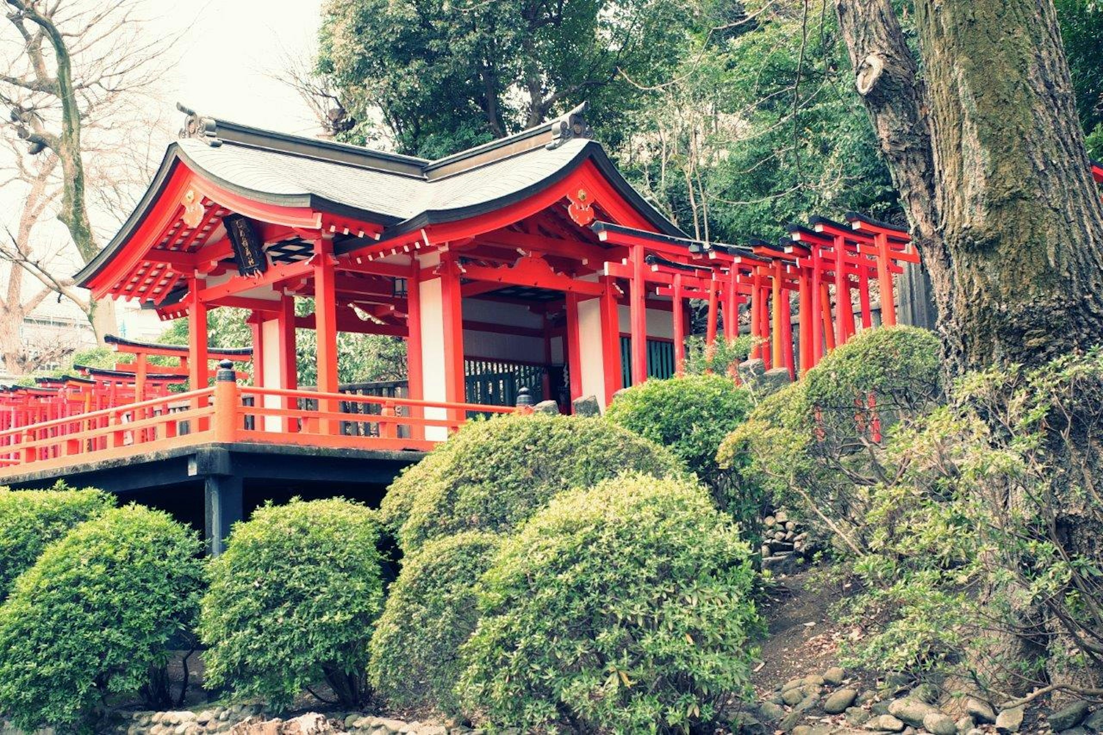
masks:
{"label": "curved grey shrine roof with dark edges and ridge ornaments", "polygon": [[77,274],[87,286],[126,245],[154,206],[176,166],[267,204],[309,207],[383,225],[382,238],[427,224],[492,212],[556,183],[591,161],[657,232],[684,236],[624,180],[589,140],[581,108],[537,128],[428,161],[357,146],[301,138],[224,120],[185,124],[133,214]]}

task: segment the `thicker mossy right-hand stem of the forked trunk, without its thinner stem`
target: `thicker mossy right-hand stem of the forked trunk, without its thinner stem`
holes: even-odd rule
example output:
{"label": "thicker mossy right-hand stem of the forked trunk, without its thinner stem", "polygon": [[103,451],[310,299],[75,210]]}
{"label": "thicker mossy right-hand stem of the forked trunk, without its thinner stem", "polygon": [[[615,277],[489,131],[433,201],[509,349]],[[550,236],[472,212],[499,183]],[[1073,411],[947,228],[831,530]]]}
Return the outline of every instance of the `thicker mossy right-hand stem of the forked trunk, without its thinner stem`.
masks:
{"label": "thicker mossy right-hand stem of the forked trunk, without its thinner stem", "polygon": [[1103,206],[1052,0],[917,0],[915,23],[961,328],[951,356],[1039,364],[1097,344]]}

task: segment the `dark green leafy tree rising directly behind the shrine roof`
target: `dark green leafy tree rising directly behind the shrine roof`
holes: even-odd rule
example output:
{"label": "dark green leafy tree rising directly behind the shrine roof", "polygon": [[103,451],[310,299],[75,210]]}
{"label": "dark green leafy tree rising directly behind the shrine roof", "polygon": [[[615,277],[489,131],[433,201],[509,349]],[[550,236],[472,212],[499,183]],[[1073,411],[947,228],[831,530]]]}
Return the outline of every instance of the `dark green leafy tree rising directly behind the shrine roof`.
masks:
{"label": "dark green leafy tree rising directly behind the shrine roof", "polygon": [[[355,120],[436,158],[537,125],[585,99],[612,132],[699,22],[674,0],[328,2],[319,68]],[[347,122],[345,125],[349,125]]]}

